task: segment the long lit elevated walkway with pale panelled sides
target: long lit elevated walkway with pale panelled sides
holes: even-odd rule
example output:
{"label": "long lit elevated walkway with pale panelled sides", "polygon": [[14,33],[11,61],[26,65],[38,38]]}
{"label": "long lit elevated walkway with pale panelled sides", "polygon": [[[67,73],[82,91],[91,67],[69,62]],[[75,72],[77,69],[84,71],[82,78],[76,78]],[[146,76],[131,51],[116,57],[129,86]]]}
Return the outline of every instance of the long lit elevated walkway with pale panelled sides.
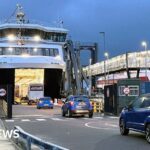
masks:
{"label": "long lit elevated walkway with pale panelled sides", "polygon": [[130,71],[137,71],[137,78],[139,77],[140,69],[150,69],[150,50],[131,52],[122,54],[107,60],[107,70],[105,70],[105,61],[83,68],[86,76],[104,76],[105,73],[113,74],[116,72],[127,71],[128,78],[130,78]]}

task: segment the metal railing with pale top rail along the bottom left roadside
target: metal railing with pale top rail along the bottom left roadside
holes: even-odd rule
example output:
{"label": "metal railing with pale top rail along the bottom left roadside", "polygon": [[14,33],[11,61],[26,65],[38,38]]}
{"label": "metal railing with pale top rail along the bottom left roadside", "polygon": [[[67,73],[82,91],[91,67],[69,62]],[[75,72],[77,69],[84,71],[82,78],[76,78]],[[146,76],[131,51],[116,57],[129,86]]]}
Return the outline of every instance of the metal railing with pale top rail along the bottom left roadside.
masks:
{"label": "metal railing with pale top rail along the bottom left roadside", "polygon": [[[24,145],[21,148],[25,150],[34,150],[32,148],[33,145],[36,147],[42,149],[42,150],[68,150],[64,147],[58,146],[53,143],[46,142],[38,137],[35,137],[27,132],[25,132],[23,129],[21,129],[19,126],[15,126],[15,130],[18,130],[19,138],[13,139],[13,141],[17,145]],[[19,142],[24,141],[24,144],[19,144]]]}

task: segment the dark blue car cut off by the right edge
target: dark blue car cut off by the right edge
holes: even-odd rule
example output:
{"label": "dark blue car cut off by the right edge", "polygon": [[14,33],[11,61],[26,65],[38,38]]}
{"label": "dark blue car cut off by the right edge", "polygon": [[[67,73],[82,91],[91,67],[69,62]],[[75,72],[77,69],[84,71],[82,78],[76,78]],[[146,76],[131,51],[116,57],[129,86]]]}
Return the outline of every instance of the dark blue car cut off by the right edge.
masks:
{"label": "dark blue car cut off by the right edge", "polygon": [[144,94],[125,107],[119,119],[121,135],[128,135],[129,130],[142,132],[150,143],[150,94]]}

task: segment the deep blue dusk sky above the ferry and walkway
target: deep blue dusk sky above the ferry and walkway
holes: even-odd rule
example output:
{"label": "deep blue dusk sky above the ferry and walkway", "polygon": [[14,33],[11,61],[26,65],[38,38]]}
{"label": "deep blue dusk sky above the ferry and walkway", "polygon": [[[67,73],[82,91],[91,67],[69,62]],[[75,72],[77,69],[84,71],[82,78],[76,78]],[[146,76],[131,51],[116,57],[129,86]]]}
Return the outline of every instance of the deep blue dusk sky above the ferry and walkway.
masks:
{"label": "deep blue dusk sky above the ferry and walkway", "polygon": [[150,0],[0,0],[0,19],[7,19],[16,4],[26,17],[54,23],[61,18],[75,41],[98,42],[99,60],[104,59],[103,36],[110,57],[150,47]]}

